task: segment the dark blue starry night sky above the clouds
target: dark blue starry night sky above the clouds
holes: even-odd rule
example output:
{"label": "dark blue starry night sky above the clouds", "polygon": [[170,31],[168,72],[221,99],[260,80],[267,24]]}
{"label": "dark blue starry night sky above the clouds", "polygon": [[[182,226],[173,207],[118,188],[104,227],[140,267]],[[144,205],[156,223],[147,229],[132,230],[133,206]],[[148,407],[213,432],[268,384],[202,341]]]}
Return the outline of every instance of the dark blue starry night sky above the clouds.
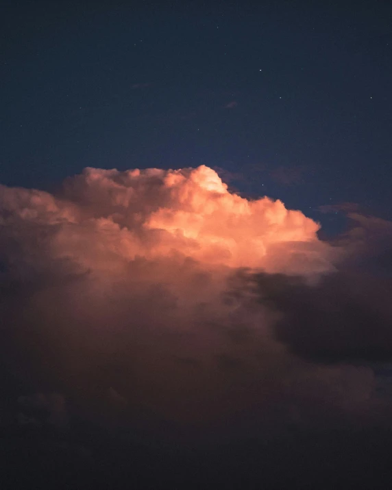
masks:
{"label": "dark blue starry night sky above the clouds", "polygon": [[392,218],[391,3],[2,5],[1,183],[205,164],[327,230]]}

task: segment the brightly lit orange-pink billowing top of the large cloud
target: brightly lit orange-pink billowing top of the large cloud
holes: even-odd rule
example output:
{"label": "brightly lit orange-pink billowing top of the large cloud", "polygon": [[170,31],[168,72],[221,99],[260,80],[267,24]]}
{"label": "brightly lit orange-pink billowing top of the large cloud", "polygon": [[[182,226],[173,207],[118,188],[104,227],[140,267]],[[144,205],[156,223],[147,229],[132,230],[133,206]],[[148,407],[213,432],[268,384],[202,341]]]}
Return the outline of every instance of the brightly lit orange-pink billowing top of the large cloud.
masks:
{"label": "brightly lit orange-pink billowing top of the large cloud", "polygon": [[[312,274],[332,270],[335,251],[319,224],[280,200],[241,198],[206,167],[99,170],[69,178],[61,197],[7,189],[1,208],[27,222],[57,224],[51,251],[87,267],[135,257],[183,255],[203,264]],[[93,267],[94,268],[94,267]]]}

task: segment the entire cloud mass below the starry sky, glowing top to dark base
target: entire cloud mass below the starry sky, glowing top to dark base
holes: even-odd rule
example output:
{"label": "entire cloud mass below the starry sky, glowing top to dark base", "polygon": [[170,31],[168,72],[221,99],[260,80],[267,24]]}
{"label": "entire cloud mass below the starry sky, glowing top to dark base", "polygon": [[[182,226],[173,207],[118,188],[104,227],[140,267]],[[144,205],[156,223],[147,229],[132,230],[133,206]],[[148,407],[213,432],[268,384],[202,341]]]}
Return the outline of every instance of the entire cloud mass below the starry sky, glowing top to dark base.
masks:
{"label": "entire cloud mass below the starry sky, glowing top to dark base", "polygon": [[50,453],[95,488],[369,488],[392,446],[392,225],[348,217],[319,240],[207,167],[1,187],[10,467]]}

